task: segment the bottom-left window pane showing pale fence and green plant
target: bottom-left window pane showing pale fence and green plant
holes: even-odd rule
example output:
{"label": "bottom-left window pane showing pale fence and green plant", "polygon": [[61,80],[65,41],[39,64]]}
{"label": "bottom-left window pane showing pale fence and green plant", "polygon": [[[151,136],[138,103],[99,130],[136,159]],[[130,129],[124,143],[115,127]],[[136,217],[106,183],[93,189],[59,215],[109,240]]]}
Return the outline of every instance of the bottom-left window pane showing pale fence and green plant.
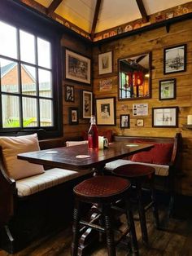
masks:
{"label": "bottom-left window pane showing pale fence and green plant", "polygon": [[20,127],[19,97],[2,95],[2,127]]}

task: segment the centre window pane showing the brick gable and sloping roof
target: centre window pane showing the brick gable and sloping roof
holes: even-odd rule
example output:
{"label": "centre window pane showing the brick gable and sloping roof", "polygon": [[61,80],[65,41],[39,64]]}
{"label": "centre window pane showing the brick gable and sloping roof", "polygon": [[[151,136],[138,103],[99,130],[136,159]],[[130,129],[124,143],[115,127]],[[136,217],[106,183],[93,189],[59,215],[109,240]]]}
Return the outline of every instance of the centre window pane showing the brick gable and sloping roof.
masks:
{"label": "centre window pane showing the brick gable and sloping roof", "polygon": [[21,64],[21,82],[24,95],[37,95],[36,68]]}

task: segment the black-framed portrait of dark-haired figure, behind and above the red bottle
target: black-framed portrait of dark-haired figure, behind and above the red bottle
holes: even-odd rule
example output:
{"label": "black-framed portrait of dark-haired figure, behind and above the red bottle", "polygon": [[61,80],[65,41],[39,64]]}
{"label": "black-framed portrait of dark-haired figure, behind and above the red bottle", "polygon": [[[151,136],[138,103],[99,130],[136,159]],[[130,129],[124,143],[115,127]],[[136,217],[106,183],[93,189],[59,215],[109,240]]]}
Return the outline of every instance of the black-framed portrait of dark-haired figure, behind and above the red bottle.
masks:
{"label": "black-framed portrait of dark-haired figure, behind and above the red bottle", "polygon": [[98,126],[116,126],[116,97],[95,99]]}

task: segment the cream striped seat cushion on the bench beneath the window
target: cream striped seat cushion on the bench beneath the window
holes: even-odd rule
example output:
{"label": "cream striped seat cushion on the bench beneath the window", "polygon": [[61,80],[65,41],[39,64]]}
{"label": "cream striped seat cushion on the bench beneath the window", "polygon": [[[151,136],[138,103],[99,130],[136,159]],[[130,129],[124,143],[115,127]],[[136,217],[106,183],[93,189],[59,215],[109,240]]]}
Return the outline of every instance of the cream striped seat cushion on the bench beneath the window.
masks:
{"label": "cream striped seat cushion on the bench beneath the window", "polygon": [[43,174],[17,180],[16,188],[19,196],[30,196],[89,173],[91,173],[90,170],[81,170],[78,172],[76,170],[53,168],[46,170]]}

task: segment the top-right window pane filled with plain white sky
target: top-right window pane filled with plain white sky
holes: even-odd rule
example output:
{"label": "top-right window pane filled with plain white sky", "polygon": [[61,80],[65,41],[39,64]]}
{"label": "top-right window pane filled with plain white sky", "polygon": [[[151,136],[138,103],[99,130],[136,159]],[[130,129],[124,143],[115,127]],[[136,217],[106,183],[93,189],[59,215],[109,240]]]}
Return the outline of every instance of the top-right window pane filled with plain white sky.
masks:
{"label": "top-right window pane filled with plain white sky", "polygon": [[37,38],[38,65],[50,68],[50,42]]}

